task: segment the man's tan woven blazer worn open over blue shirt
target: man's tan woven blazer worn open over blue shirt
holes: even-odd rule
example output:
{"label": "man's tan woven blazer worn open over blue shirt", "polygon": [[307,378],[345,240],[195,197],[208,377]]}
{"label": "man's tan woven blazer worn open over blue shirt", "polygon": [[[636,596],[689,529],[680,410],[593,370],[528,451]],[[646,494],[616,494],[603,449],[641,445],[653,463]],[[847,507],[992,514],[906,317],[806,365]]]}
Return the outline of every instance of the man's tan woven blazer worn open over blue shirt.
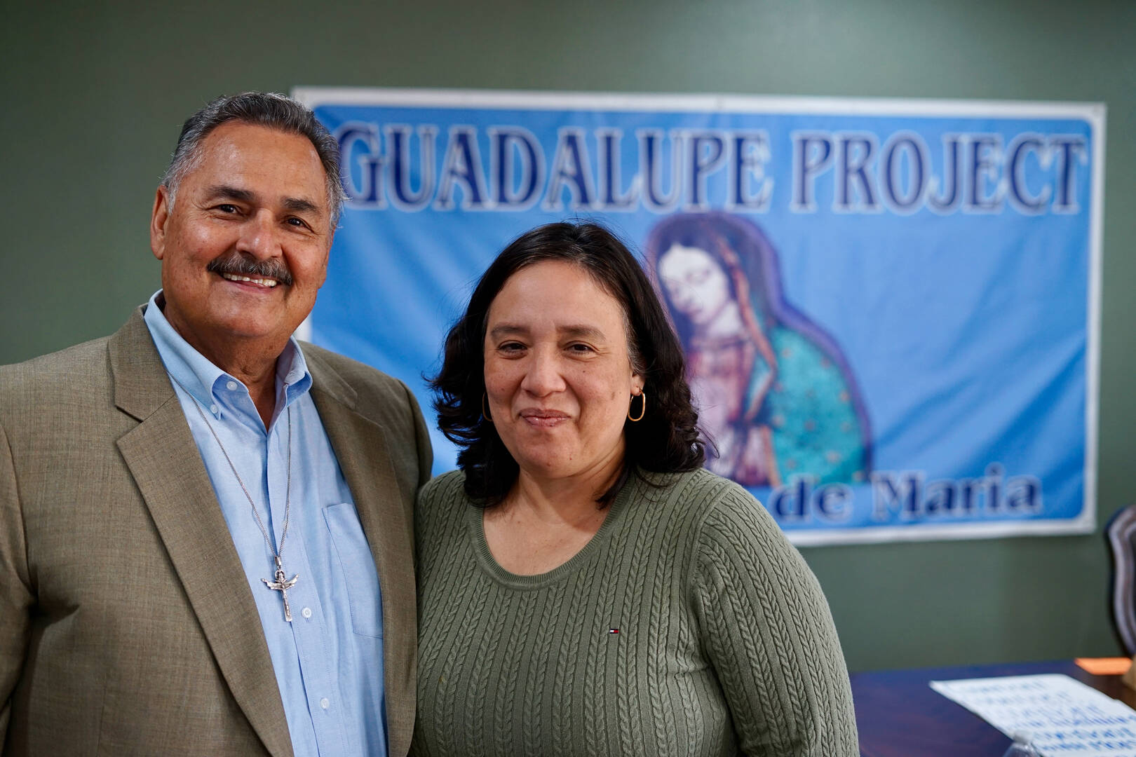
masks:
{"label": "man's tan woven blazer worn open over blue shirt", "polygon": [[[406,386],[304,345],[383,597],[391,755],[415,716]],[[251,590],[139,309],[117,334],[0,368],[3,755],[292,755]]]}

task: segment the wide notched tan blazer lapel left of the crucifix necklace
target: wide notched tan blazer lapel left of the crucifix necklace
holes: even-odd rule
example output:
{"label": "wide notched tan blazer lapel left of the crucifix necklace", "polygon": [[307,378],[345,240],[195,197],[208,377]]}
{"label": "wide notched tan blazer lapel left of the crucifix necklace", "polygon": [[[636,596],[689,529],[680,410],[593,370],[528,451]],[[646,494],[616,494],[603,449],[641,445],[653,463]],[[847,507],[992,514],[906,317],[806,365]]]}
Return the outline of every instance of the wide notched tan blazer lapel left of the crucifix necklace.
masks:
{"label": "wide notched tan blazer lapel left of the crucifix necklace", "polygon": [[115,404],[140,421],[118,440],[222,674],[257,735],[291,757],[256,602],[141,309],[109,344]]}

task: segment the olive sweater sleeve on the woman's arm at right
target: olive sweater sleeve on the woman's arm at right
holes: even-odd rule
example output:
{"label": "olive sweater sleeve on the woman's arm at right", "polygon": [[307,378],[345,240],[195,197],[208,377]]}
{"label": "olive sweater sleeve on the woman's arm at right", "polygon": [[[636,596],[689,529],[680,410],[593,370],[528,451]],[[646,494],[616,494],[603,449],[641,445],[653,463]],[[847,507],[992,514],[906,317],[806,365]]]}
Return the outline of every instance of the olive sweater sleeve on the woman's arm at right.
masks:
{"label": "olive sweater sleeve on the woman's arm at right", "polygon": [[702,645],[743,754],[855,757],[852,691],[820,584],[744,489],[702,521],[691,581]]}

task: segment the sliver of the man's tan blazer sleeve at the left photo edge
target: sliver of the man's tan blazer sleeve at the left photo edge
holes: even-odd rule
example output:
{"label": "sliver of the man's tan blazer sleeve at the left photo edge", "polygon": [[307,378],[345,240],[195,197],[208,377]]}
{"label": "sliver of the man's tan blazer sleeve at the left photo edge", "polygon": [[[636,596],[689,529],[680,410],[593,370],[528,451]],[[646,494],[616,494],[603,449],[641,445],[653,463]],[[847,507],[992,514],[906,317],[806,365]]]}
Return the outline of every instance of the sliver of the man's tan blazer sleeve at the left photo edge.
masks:
{"label": "sliver of the man's tan blazer sleeve at the left photo edge", "polygon": [[0,749],[8,735],[12,690],[27,653],[33,599],[16,468],[0,424]]}

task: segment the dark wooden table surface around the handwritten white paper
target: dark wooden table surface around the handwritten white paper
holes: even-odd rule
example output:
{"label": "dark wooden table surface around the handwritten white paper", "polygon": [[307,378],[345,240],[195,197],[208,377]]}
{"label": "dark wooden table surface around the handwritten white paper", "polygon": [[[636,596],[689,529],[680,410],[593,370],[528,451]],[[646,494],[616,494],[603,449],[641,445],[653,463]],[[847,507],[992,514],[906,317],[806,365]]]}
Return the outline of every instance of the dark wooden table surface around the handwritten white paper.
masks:
{"label": "dark wooden table surface around the handwritten white paper", "polygon": [[863,757],[1002,757],[1010,739],[928,685],[930,681],[1063,673],[1136,706],[1119,675],[1091,675],[1072,661],[853,673]]}

